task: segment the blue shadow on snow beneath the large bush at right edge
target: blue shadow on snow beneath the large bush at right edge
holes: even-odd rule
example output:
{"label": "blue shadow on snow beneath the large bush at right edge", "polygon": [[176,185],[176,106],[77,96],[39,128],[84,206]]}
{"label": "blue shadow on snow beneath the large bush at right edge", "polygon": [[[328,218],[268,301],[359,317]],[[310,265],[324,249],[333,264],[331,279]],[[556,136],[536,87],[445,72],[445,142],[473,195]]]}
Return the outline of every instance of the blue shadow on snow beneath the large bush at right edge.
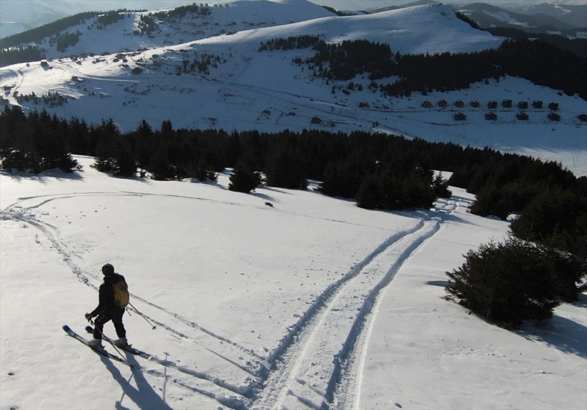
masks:
{"label": "blue shadow on snow beneath the large bush at right edge", "polygon": [[517,331],[522,337],[544,342],[561,352],[587,358],[587,327],[558,315],[545,324],[532,326],[526,324]]}

